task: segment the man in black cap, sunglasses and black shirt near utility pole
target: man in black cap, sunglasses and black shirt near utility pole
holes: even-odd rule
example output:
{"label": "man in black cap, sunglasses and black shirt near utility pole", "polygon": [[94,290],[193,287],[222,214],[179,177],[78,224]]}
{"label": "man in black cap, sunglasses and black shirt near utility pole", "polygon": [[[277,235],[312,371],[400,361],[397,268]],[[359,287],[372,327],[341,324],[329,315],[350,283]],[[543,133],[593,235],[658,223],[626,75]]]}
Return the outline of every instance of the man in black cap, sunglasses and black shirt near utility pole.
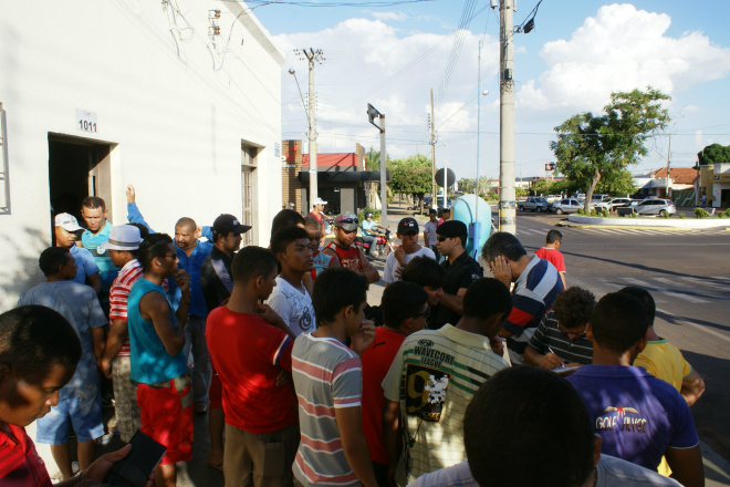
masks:
{"label": "man in black cap, sunglasses and black shirt near utility pole", "polygon": [[435,328],[439,329],[446,323],[455,324],[459,321],[467,288],[483,277],[483,271],[463,248],[467,241],[467,226],[463,222],[447,220],[438,226],[436,235],[436,247],[446,257],[441,262],[446,270],[444,296],[435,310]]}

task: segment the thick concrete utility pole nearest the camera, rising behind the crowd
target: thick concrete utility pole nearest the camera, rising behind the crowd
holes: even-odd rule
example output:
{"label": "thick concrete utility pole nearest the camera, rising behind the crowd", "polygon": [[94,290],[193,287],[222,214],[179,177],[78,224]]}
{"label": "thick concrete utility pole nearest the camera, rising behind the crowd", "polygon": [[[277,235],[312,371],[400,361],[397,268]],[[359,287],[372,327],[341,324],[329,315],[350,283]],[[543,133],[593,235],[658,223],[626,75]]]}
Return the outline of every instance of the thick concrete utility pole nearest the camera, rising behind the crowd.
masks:
{"label": "thick concrete utility pole nearest the camera, rising behind the crowd", "polygon": [[499,230],[517,232],[514,211],[513,0],[500,0]]}

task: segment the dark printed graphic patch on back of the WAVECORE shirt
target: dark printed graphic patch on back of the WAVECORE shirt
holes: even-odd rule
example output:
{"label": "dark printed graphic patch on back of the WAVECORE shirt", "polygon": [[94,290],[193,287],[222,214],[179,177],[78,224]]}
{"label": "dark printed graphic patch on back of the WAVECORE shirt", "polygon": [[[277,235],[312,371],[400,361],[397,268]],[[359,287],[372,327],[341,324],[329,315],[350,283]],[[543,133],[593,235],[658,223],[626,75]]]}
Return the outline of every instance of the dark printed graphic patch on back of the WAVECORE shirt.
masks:
{"label": "dark printed graphic patch on back of the WAVECORE shirt", "polygon": [[423,421],[438,423],[451,374],[423,365],[406,365],[406,412]]}

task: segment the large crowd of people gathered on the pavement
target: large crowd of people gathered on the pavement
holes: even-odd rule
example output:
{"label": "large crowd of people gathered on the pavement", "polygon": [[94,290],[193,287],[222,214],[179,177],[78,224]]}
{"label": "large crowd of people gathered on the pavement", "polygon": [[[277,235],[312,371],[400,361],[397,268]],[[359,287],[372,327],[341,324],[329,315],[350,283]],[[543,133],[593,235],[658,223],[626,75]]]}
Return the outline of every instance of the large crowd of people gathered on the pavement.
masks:
{"label": "large crowd of people gathered on the pavement", "polygon": [[654,331],[648,291],[566,288],[556,230],[534,256],[492,234],[482,269],[463,222],[431,213],[421,245],[403,218],[380,277],[356,215],[325,245],[322,200],[241,249],[233,215],[180,218],[171,237],[135,199],[128,186],[125,225],[96,197],[85,229],[56,215],[45,282],[0,314],[2,486],[51,485],[33,421],[59,485],[103,481],[131,449],[94,460],[105,388],[112,433],[166,447],[148,485],[176,485],[195,414],[227,486],[705,484],[700,375]]}

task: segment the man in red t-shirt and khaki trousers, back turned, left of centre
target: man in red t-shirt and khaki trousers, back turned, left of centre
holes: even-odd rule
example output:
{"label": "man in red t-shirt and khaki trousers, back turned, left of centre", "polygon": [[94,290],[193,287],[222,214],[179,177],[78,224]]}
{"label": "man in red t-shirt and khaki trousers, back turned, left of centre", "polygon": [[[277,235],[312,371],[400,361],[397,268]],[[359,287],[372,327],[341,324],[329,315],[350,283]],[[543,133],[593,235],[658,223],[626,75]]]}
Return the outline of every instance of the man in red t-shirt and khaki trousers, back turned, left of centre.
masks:
{"label": "man in red t-shirt and khaki trousers, back turned, left of centre", "polygon": [[271,294],[277,258],[267,249],[246,247],[233,258],[233,290],[226,305],[212,310],[206,340],[223,386],[227,486],[291,486],[299,446],[296,396],[291,381],[294,334],[271,308],[259,304]]}

